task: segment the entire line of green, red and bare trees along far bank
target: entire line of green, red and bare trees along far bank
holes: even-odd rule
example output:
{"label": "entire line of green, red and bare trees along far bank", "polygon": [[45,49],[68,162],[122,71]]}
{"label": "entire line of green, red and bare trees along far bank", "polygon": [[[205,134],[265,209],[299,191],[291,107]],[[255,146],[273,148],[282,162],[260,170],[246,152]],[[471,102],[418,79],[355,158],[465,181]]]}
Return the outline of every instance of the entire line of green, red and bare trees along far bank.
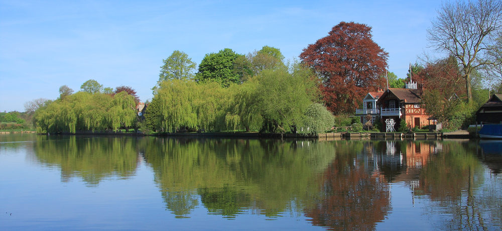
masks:
{"label": "entire line of green, red and bare trees along far bank", "polygon": [[[486,86],[493,84],[491,92],[494,93],[502,89],[502,78],[497,77],[502,73],[499,71],[502,68],[502,3],[492,0],[446,2],[432,21],[428,34],[431,46],[446,56],[422,58],[423,62],[410,67],[407,78],[413,77],[423,84],[422,104],[427,113],[446,124],[456,121],[450,127],[466,125],[473,121],[475,108],[485,100],[483,95],[488,95]],[[163,60],[145,122],[117,119],[120,122],[112,123],[109,122],[112,119],[100,119],[99,126],[83,126],[85,123],[76,121],[84,119],[75,119],[84,118],[83,114],[72,116],[74,113],[68,112],[68,116],[58,119],[39,117],[37,126],[42,126],[43,131],[53,131],[49,129],[51,126],[56,130],[65,128],[65,131],[74,131],[75,126],[75,129],[91,130],[136,126],[164,132],[296,133],[307,130],[310,133],[313,129],[313,133],[317,133],[333,125],[332,114],[353,114],[368,91],[385,89],[387,76],[390,87],[404,87],[408,81],[392,72],[386,74],[389,54],[372,40],[371,27],[365,24],[340,22],[326,37],[308,45],[299,57],[299,62],[285,63],[284,56],[275,47],[264,46],[246,55],[225,48],[206,54],[196,71],[196,63],[186,53],[176,50]],[[100,97],[94,94],[105,94],[113,99],[116,93],[95,80],[87,81],[81,89],[90,93],[91,98]],[[127,91],[129,95],[135,95],[131,90],[134,91],[132,88]],[[77,100],[72,92],[62,86],[56,104]],[[459,100],[452,101],[452,95]],[[69,97],[68,100],[65,97]],[[139,99],[135,96],[135,100]],[[59,109],[63,111],[58,113],[66,113],[64,108],[61,106]],[[68,108],[73,106],[70,104]],[[117,117],[133,117],[132,111],[114,113]],[[309,114],[322,115],[322,119]],[[54,127],[56,124],[61,126]]]}

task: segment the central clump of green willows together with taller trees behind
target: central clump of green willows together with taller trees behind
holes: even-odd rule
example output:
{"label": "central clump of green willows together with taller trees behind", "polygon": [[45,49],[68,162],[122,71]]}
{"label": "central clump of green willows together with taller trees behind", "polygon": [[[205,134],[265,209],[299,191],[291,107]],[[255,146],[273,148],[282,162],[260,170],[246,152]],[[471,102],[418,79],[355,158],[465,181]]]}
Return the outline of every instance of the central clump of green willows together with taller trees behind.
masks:
{"label": "central clump of green willows together with taller trees behind", "polygon": [[230,49],[206,55],[212,62],[204,64],[207,69],[228,64],[219,75],[202,68],[192,78],[164,79],[167,71],[161,71],[145,126],[161,132],[317,134],[329,129],[333,116],[320,103],[313,73],[301,63],[284,64],[280,51],[274,50],[276,56],[263,49],[247,56]]}

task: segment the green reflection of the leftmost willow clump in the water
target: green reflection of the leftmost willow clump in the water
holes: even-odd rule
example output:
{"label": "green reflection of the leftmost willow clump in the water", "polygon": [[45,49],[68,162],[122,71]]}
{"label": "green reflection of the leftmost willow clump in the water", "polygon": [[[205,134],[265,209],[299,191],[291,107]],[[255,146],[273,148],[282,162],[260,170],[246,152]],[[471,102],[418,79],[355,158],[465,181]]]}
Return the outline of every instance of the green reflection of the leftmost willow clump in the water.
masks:
{"label": "green reflection of the leftmost willow clump in the water", "polygon": [[97,185],[104,177],[135,174],[138,155],[132,139],[37,136],[34,150],[41,163],[61,167],[62,181],[78,176],[88,185]]}

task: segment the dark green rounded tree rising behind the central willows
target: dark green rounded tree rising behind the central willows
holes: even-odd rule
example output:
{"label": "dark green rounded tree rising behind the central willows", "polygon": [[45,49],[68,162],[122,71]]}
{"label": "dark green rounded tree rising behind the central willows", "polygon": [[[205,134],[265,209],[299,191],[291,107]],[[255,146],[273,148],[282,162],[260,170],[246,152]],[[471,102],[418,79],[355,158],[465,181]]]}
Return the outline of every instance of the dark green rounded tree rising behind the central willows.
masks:
{"label": "dark green rounded tree rising behind the central willows", "polygon": [[199,64],[199,72],[195,75],[198,82],[216,81],[224,87],[230,83],[239,83],[240,76],[234,71],[234,61],[239,54],[232,49],[225,48],[218,53],[210,53],[204,56]]}

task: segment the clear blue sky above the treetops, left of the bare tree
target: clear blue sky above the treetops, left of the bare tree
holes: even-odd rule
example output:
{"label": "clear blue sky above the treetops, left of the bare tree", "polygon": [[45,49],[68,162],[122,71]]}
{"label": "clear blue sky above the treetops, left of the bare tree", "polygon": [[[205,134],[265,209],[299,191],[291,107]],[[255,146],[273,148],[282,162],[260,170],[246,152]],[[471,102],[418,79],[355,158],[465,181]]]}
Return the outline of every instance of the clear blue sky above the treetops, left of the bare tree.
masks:
{"label": "clear blue sky above the treetops, left of the bare tree", "polygon": [[341,21],[372,27],[404,78],[428,51],[426,30],[439,1],[3,1],[0,0],[0,111],[24,111],[89,79],[153,97],[162,59],[184,51],[200,63],[224,48],[264,45],[298,58]]}

